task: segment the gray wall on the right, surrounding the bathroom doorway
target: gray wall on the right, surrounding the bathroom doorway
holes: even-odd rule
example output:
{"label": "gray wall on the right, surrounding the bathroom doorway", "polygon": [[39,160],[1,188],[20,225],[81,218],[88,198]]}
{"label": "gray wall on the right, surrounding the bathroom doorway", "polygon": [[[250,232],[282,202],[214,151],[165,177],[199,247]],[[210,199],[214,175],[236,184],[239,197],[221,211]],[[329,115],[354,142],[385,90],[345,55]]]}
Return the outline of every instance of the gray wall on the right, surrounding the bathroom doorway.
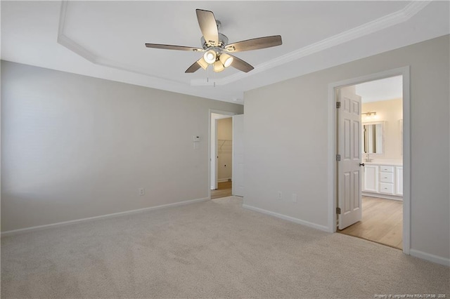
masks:
{"label": "gray wall on the right, surrounding the bathroom doorway", "polygon": [[411,251],[448,261],[449,36],[245,93],[244,204],[328,227],[328,84],[408,65]]}

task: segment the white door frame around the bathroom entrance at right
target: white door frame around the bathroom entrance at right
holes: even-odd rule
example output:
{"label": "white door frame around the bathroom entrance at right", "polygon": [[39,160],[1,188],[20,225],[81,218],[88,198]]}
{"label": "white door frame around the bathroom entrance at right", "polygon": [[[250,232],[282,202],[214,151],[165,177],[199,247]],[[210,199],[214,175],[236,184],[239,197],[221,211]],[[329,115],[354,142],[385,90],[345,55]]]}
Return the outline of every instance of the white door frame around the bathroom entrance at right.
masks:
{"label": "white door frame around the bathroom entrance at right", "polygon": [[411,248],[411,95],[410,67],[388,69],[384,72],[368,74],[328,84],[328,230],[336,232],[336,204],[338,196],[337,173],[337,89],[367,81],[385,79],[401,75],[403,77],[403,252],[409,254]]}

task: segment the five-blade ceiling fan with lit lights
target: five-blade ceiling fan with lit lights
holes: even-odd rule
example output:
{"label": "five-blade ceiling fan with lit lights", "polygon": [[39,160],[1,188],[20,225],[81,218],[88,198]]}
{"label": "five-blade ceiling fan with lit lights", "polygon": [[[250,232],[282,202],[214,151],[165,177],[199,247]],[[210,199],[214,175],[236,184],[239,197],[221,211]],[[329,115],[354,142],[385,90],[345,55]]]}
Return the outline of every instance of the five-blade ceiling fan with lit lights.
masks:
{"label": "five-blade ceiling fan with lit lights", "polygon": [[204,11],[203,9],[196,9],[195,11],[197,13],[198,25],[200,25],[200,30],[203,34],[201,38],[202,48],[146,44],[147,48],[205,52],[199,60],[195,61],[193,65],[186,69],[185,73],[193,73],[200,69],[200,67],[206,69],[209,65],[213,66],[214,72],[221,72],[229,66],[235,67],[242,72],[250,72],[254,69],[252,65],[229,53],[270,48],[282,44],[280,35],[258,37],[256,39],[228,44],[228,37],[219,33],[221,23],[214,18],[214,13],[212,11]]}

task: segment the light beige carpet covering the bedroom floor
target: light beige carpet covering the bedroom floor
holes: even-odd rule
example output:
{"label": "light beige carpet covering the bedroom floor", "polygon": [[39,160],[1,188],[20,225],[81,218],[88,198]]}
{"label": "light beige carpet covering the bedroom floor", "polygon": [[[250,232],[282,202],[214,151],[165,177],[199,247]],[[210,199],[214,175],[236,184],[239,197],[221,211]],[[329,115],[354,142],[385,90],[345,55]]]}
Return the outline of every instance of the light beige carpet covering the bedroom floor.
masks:
{"label": "light beige carpet covering the bedroom floor", "polygon": [[449,267],[236,197],[1,239],[1,298],[449,298],[449,278]]}

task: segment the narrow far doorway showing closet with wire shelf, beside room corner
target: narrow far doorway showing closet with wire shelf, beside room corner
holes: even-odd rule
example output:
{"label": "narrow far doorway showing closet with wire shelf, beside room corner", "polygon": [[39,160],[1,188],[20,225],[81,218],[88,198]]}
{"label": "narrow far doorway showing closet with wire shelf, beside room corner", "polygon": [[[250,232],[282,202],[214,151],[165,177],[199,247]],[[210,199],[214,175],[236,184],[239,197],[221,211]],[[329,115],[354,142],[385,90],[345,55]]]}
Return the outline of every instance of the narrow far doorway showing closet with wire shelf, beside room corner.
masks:
{"label": "narrow far doorway showing closet with wire shelf, beside room corner", "polygon": [[210,198],[229,197],[233,181],[233,113],[210,111]]}

